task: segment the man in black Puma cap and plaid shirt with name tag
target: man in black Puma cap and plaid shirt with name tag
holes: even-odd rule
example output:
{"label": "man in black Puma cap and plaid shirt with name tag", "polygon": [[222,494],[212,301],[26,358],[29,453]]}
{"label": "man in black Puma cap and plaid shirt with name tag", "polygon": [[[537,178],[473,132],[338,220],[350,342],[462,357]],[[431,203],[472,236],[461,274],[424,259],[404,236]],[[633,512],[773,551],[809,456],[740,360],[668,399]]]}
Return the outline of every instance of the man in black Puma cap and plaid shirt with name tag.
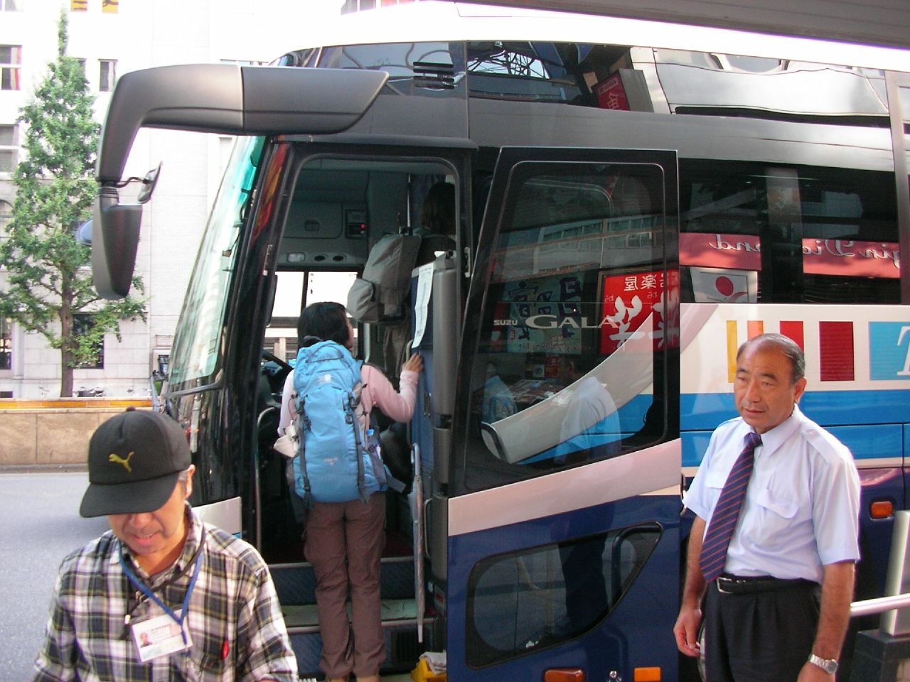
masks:
{"label": "man in black Puma cap and plaid shirt with name tag", "polygon": [[298,679],[268,568],[193,513],[194,470],[168,416],[98,426],[80,514],[111,530],[63,560],[35,682]]}

